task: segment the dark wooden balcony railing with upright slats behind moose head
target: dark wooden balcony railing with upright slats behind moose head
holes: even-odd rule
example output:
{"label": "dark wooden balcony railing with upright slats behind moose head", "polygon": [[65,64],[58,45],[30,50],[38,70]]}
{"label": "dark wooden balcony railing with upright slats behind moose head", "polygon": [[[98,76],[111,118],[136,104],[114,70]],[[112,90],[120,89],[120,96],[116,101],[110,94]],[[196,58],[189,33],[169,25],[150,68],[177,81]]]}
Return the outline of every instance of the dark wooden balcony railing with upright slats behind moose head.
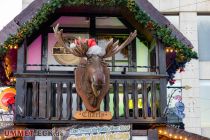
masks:
{"label": "dark wooden balcony railing with upright slats behind moose head", "polygon": [[[85,110],[76,94],[73,74],[17,74],[16,123],[90,123],[73,114]],[[163,123],[160,75],[112,74],[110,90],[101,104],[111,121],[98,123]],[[166,85],[165,85],[166,86]],[[162,107],[163,108],[163,107]]]}

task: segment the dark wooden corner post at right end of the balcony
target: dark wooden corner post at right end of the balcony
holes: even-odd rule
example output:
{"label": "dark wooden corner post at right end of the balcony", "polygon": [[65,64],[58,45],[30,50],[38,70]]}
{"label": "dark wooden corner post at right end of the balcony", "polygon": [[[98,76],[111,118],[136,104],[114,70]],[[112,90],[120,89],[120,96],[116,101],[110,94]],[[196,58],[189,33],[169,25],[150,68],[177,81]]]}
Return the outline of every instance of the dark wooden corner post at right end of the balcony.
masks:
{"label": "dark wooden corner post at right end of the balcony", "polygon": [[[166,75],[166,54],[164,46],[160,41],[157,40],[157,47],[159,50],[159,72],[160,74]],[[164,110],[167,105],[167,93],[166,93],[166,78],[160,78],[160,111],[161,116],[164,116]]]}

